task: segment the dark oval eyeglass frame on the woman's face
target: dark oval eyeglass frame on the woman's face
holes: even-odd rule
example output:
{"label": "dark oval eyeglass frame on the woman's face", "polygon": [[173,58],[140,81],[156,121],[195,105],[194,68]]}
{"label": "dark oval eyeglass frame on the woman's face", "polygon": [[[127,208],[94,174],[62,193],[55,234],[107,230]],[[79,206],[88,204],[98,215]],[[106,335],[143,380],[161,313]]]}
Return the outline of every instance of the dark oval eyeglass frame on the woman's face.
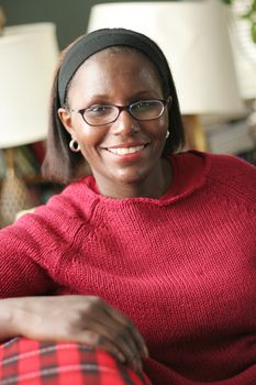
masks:
{"label": "dark oval eyeglass frame on the woman's face", "polygon": [[[86,108],[82,108],[82,109],[80,109],[80,110],[74,110],[74,109],[71,109],[71,108],[69,108],[69,107],[66,106],[65,109],[68,110],[69,112],[79,113],[79,114],[81,116],[82,120],[84,120],[88,125],[91,125],[91,127],[102,127],[102,125],[108,125],[108,124],[114,123],[114,122],[119,119],[119,117],[120,117],[120,114],[121,114],[122,111],[129,112],[130,116],[131,116],[133,119],[135,119],[136,121],[138,121],[138,122],[147,122],[147,121],[151,121],[151,120],[158,119],[158,118],[160,118],[160,117],[163,116],[163,113],[164,113],[164,111],[165,111],[165,107],[166,107],[169,102],[171,102],[171,100],[172,100],[171,96],[168,96],[165,100],[164,100],[164,99],[144,99],[144,100],[135,101],[134,103],[126,105],[126,106],[99,105],[99,106],[102,106],[102,107],[115,107],[115,108],[118,108],[118,110],[119,110],[119,113],[118,113],[116,118],[114,118],[114,120],[112,120],[112,121],[110,121],[110,122],[108,122],[108,123],[102,123],[102,124],[91,124],[91,123],[88,123],[88,121],[87,121],[86,118],[84,117],[85,111],[88,110],[89,108],[93,107],[93,106],[86,107]],[[147,101],[159,101],[159,102],[162,102],[162,105],[163,105],[163,110],[162,110],[162,112],[159,113],[159,116],[156,117],[156,118],[152,118],[152,119],[137,119],[137,118],[135,118],[135,117],[132,114],[131,108],[132,108],[134,105],[137,105],[137,103],[140,103],[140,102],[142,102],[142,101],[145,101],[145,102],[147,102]]]}

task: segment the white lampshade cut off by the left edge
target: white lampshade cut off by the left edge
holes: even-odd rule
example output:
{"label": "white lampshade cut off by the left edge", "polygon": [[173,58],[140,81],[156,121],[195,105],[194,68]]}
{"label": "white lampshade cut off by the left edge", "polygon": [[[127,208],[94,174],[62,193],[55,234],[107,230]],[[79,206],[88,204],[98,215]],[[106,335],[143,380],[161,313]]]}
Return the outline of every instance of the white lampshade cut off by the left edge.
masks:
{"label": "white lampshade cut off by the left edge", "polygon": [[53,23],[3,30],[0,36],[0,148],[46,138],[57,55]]}

